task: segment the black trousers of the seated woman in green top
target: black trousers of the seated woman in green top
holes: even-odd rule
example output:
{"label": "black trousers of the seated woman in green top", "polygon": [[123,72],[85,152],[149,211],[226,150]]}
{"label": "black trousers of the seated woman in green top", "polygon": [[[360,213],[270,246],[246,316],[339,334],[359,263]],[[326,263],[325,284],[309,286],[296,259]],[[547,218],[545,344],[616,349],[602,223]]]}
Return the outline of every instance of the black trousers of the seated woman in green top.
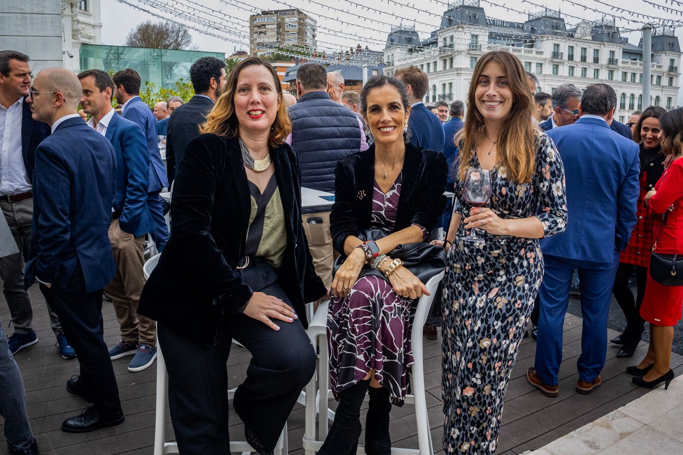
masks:
{"label": "black trousers of the seated woman in green top", "polygon": [[[242,279],[254,291],[289,304],[268,265],[242,269]],[[226,362],[233,338],[252,355],[247,379],[235,392],[234,409],[245,424],[251,446],[260,454],[273,453],[296,398],[316,368],[316,353],[301,322],[275,322],[280,327],[277,332],[244,314],[231,316],[213,347],[157,323],[169,375],[171,420],[181,454],[230,453]]]}

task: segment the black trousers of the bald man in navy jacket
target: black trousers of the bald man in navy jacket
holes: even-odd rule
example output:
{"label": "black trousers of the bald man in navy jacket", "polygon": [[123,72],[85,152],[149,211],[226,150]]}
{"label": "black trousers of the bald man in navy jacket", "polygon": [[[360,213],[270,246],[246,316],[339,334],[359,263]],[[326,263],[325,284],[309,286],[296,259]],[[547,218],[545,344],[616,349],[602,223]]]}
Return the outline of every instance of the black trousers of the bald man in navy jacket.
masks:
{"label": "black trousers of the bald man in navy jacket", "polygon": [[69,344],[81,365],[86,394],[92,397],[93,405],[102,417],[120,417],[123,411],[119,389],[107,344],[102,338],[102,289],[86,294],[79,266],[66,289],[40,284],[40,291],[57,313],[64,332],[69,334]]}

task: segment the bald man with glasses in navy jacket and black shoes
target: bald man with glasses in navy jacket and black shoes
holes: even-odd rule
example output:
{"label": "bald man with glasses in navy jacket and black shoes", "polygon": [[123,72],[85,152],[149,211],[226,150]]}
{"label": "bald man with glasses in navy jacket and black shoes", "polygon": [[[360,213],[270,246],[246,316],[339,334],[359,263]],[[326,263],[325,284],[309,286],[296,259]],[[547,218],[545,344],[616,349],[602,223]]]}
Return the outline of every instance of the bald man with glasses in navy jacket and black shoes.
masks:
{"label": "bald man with glasses in navy jacket and black shoes", "polygon": [[33,119],[52,134],[36,150],[33,226],[26,288],[35,280],[76,350],[80,388],[92,401],[61,424],[86,432],[124,421],[114,370],[102,334],[102,288],[115,274],[107,230],[115,194],[116,156],[111,143],[76,113],[81,84],[65,68],[38,73],[27,102]]}

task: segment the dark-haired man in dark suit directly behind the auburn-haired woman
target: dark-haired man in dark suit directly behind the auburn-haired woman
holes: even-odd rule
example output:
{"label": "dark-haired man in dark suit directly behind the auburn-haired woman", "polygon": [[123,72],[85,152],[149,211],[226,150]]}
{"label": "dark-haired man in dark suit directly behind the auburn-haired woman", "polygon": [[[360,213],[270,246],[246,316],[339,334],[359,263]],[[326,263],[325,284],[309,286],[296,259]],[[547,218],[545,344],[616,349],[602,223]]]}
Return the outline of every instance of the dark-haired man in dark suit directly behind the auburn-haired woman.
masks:
{"label": "dark-haired man in dark suit directly behind the auburn-haired woman", "polygon": [[223,89],[225,89],[225,61],[216,57],[201,57],[190,67],[190,80],[195,96],[178,106],[169,117],[166,135],[166,166],[169,188],[176,178],[176,167],[185,147],[199,136],[199,125],[206,120]]}

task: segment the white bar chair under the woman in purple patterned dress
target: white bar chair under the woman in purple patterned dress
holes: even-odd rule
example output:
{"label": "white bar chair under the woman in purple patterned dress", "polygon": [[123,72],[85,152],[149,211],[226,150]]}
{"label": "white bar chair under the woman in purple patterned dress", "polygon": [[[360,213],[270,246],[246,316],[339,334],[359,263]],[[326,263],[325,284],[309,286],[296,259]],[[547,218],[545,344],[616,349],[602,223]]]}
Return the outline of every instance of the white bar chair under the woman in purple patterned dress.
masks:
{"label": "white bar chair under the woman in purple patterned dress", "polygon": [[[424,365],[422,352],[422,330],[421,327],[427,321],[427,317],[432,308],[432,300],[436,294],[438,283],[441,282],[445,272],[432,276],[426,283],[430,295],[423,295],[417,302],[415,311],[415,321],[413,321],[413,333],[410,340],[413,345],[413,394],[406,396],[406,403],[415,405],[415,421],[417,424],[417,441],[419,449],[404,449],[393,447],[391,454],[421,454],[431,455],[434,453],[432,447],[432,435],[430,434],[429,420],[427,416],[427,399],[425,392]],[[306,385],[306,409],[305,409],[305,431],[303,437],[303,448],[305,455],[314,455],[325,440],[328,430],[328,420],[334,420],[334,413],[328,408],[329,402],[329,352],[327,349],[327,310],[328,304],[320,304],[316,314],[308,325],[308,336],[311,338],[313,346],[319,343],[320,356],[318,358],[318,390],[316,391],[316,377],[314,376]],[[317,392],[317,393],[316,393]],[[316,439],[316,415],[318,419],[318,439]],[[326,416],[326,418],[322,416]],[[365,454],[363,445],[358,446],[357,454]]]}

